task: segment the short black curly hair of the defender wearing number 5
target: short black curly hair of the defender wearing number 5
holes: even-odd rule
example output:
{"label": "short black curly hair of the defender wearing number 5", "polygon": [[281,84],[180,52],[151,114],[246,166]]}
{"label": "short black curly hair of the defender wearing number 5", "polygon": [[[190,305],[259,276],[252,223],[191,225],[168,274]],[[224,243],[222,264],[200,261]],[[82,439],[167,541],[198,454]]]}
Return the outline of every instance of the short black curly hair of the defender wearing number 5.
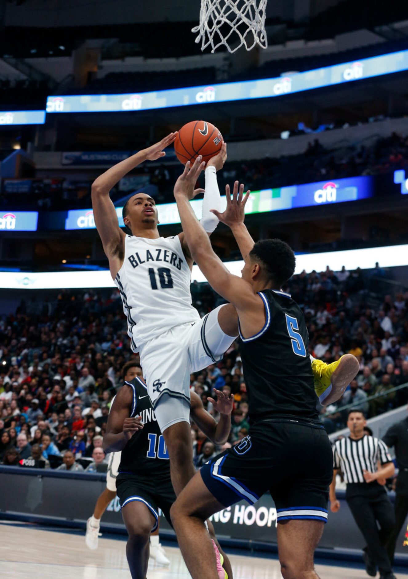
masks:
{"label": "short black curly hair of the defender wearing number 5", "polygon": [[252,261],[264,269],[266,280],[272,281],[275,289],[280,289],[295,271],[294,251],[281,239],[262,239],[250,251]]}

